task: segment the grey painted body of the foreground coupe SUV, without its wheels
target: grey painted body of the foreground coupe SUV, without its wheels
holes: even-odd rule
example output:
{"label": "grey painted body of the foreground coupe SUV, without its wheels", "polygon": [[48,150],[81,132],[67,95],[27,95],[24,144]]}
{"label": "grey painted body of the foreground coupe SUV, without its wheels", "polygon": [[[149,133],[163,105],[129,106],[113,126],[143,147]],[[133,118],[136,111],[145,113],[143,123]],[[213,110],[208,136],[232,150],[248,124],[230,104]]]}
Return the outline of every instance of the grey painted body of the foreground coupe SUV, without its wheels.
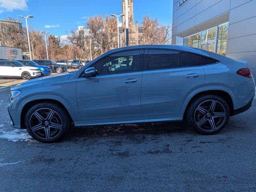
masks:
{"label": "grey painted body of the foreground coupe SUV, without its wheels", "polygon": [[[161,63],[149,66],[149,61],[165,53],[177,55],[177,67],[159,68]],[[130,55],[135,57],[132,59]],[[97,65],[111,57],[118,58],[117,62],[126,59],[113,69],[101,67],[97,71],[100,74],[95,77],[84,75],[86,69],[94,67],[97,70]],[[192,62],[197,63],[198,58],[212,63],[190,66]],[[125,71],[133,67],[134,60],[138,63],[137,69]],[[185,65],[180,66],[181,62]],[[246,63],[196,48],[123,47],[106,52],[75,72],[41,77],[12,87],[11,91],[20,90],[21,93],[10,100],[8,111],[11,125],[16,128],[24,128],[26,110],[38,102],[62,106],[75,126],[181,121],[195,98],[216,95],[227,102],[232,116],[250,108],[254,98],[254,79],[237,74],[244,68],[248,68]],[[105,74],[104,70],[108,72]],[[123,72],[109,74],[111,70]]]}

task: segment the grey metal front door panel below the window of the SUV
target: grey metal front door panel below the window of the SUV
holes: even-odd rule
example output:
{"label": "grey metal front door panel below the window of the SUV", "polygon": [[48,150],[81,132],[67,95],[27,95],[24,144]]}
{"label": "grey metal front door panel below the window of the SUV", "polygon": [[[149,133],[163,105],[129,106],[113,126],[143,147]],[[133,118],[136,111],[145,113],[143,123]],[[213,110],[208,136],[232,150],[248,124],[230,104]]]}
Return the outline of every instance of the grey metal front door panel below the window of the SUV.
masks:
{"label": "grey metal front door panel below the window of the SUV", "polygon": [[[101,120],[142,116],[142,72],[79,78],[77,103],[81,119]],[[136,82],[125,82],[137,80]]]}

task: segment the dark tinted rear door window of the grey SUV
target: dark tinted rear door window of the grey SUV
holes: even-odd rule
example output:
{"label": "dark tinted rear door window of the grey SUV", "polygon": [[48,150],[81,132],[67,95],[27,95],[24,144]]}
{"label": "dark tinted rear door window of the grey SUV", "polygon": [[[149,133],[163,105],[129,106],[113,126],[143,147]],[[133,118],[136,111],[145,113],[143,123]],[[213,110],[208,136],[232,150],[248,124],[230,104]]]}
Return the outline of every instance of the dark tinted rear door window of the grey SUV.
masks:
{"label": "dark tinted rear door window of the grey SUV", "polygon": [[171,50],[149,50],[149,70],[178,67],[178,52]]}

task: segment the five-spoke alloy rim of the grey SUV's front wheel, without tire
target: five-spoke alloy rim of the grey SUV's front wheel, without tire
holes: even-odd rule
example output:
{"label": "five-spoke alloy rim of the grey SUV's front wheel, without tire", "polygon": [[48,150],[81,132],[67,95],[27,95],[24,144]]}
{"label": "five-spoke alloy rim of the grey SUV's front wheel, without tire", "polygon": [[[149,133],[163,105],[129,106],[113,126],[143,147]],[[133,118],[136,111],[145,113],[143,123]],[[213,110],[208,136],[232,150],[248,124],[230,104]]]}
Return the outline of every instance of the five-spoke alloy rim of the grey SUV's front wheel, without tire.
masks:
{"label": "five-spoke alloy rim of the grey SUV's front wheel, without tire", "polygon": [[59,114],[49,108],[40,108],[30,116],[30,129],[43,139],[53,139],[62,130],[62,120]]}

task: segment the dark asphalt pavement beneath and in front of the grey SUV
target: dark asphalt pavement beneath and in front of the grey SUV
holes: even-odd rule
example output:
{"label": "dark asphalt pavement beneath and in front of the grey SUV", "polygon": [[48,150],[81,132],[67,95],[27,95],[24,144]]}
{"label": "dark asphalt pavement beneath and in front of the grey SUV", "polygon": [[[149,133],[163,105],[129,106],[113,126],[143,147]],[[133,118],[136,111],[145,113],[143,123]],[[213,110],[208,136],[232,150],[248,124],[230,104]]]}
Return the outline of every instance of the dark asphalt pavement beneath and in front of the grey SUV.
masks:
{"label": "dark asphalt pavement beneath and in front of the grey SUV", "polygon": [[219,134],[182,122],[72,128],[42,144],[9,126],[0,89],[0,191],[256,191],[256,99]]}

